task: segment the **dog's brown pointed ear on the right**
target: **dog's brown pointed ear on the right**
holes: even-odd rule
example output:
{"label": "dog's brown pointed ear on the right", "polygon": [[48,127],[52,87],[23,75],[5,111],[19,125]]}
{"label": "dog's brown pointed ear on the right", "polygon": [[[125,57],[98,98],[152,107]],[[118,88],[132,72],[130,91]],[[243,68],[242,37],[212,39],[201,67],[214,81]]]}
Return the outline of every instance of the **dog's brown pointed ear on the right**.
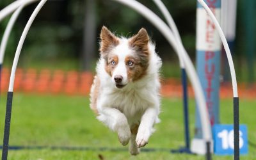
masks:
{"label": "dog's brown pointed ear on the right", "polygon": [[145,54],[148,54],[148,42],[149,36],[147,30],[141,28],[137,35],[134,35],[129,40],[130,47],[142,51]]}

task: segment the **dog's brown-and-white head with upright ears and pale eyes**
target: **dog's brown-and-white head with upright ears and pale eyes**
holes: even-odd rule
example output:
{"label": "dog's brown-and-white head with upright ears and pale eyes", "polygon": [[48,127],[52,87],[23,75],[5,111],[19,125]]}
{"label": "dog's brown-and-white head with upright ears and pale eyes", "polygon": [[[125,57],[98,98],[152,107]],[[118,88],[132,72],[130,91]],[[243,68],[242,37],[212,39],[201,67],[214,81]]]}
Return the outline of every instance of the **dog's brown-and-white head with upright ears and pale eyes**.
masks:
{"label": "dog's brown-and-white head with upright ears and pale eyes", "polygon": [[148,68],[150,42],[146,29],[129,39],[118,38],[105,26],[100,33],[100,54],[106,61],[105,70],[117,88],[138,81]]}

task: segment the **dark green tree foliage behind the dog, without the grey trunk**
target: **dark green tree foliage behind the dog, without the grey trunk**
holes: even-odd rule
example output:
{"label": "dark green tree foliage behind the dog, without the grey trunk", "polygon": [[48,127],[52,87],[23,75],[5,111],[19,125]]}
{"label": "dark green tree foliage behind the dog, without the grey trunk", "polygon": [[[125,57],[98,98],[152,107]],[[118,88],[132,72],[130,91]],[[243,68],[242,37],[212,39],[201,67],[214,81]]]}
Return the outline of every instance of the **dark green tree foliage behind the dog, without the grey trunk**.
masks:
{"label": "dark green tree foliage behind the dog, without the grey trunk", "polygon": [[[0,8],[4,8],[11,2],[13,1],[1,0]],[[159,52],[164,61],[178,61],[172,47],[166,42],[161,33],[140,14],[115,1],[95,0],[95,2],[96,7],[94,10],[97,26],[97,34],[95,36],[97,36],[98,41],[99,32],[103,25],[122,36],[132,36],[143,27],[152,36],[152,40],[156,42],[157,52]],[[150,10],[164,19],[153,1],[139,0],[139,2],[145,4]],[[163,0],[163,3],[166,4],[175,20],[189,55],[195,56],[196,1]],[[86,28],[84,26],[85,5],[86,1],[84,0],[47,1],[38,17],[36,17],[24,44],[26,61],[55,61],[81,58],[84,45],[83,31]],[[35,6],[36,4],[27,6],[17,20],[8,42],[7,59],[12,60],[20,34]],[[238,17],[241,18],[239,15]],[[6,18],[0,23],[0,35],[3,35],[8,19]],[[241,24],[241,20],[238,19],[237,22]],[[95,42],[95,46],[92,47],[98,48],[99,43]],[[92,54],[94,54],[95,59],[99,57],[98,52]],[[24,58],[24,54],[21,54],[21,56]]]}

